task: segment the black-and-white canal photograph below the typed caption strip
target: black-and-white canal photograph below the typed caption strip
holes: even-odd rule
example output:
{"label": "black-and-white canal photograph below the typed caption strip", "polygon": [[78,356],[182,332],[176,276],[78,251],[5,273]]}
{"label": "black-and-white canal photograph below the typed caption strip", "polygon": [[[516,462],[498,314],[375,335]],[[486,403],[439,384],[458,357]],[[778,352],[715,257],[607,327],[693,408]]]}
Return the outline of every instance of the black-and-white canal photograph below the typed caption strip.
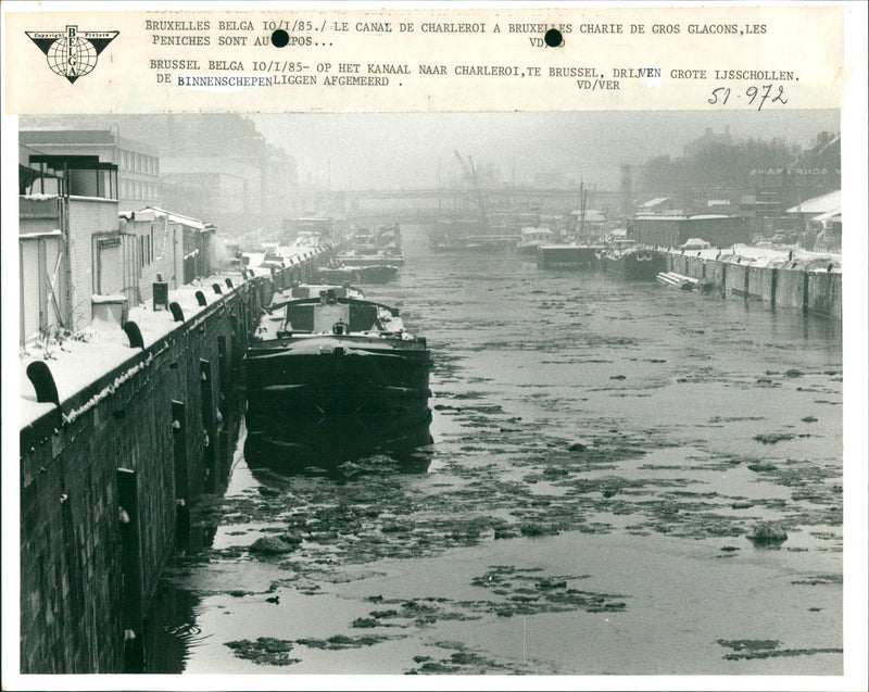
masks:
{"label": "black-and-white canal photograph below the typed caption strip", "polygon": [[841,676],[841,115],[22,115],[21,671]]}

